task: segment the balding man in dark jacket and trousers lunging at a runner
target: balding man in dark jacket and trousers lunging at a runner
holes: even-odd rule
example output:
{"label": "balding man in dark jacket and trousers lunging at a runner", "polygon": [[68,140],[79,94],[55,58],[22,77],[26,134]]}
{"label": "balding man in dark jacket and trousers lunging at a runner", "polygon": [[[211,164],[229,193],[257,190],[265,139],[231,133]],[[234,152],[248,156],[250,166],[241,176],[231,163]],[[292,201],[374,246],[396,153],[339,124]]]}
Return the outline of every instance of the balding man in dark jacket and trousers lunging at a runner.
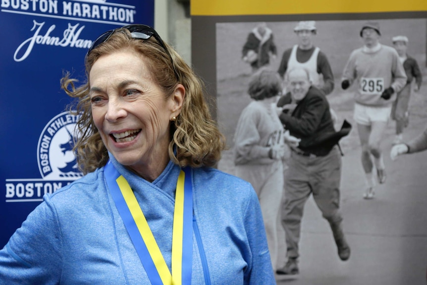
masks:
{"label": "balding man in dark jacket and trousers lunging at a runner", "polygon": [[289,70],[287,82],[290,93],[279,100],[278,115],[285,129],[301,141],[298,147],[291,147],[285,178],[281,223],[285,230],[288,261],[276,271],[279,275],[299,273],[301,219],[310,194],[313,194],[323,218],[329,222],[339,258],[347,260],[350,257],[339,211],[341,154],[337,144],[350,132],[351,126],[344,121],[341,130],[335,131],[329,104],[324,93],[311,85],[308,70],[302,67]]}

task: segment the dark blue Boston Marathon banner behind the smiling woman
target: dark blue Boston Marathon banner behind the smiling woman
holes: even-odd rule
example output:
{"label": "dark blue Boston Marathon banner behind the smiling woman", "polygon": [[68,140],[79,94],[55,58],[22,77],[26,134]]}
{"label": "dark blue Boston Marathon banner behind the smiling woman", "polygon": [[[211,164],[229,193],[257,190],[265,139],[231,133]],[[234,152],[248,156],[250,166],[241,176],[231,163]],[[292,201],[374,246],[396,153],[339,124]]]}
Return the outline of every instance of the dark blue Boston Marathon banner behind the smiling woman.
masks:
{"label": "dark blue Boston Marathon banner behind the smiling woman", "polygon": [[83,174],[77,121],[63,72],[85,81],[84,57],[101,33],[154,25],[154,0],[0,0],[0,248],[42,201]]}

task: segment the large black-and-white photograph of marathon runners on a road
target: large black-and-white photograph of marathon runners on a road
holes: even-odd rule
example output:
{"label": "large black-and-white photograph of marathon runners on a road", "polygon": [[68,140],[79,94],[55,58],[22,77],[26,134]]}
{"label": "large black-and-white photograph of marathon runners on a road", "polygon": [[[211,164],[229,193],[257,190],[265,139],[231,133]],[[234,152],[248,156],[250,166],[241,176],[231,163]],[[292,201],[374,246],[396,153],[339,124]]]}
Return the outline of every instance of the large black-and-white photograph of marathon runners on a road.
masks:
{"label": "large black-and-white photograph of marathon runners on a road", "polygon": [[427,20],[215,33],[218,169],[253,184],[277,284],[425,284]]}

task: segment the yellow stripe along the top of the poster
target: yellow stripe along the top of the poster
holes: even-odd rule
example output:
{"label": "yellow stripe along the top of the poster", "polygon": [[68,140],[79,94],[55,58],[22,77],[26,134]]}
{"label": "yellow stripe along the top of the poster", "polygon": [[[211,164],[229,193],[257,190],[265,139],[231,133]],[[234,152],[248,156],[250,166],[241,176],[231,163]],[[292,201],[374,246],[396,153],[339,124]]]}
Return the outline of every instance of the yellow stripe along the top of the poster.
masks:
{"label": "yellow stripe along the top of the poster", "polygon": [[193,16],[427,11],[427,0],[191,0]]}

